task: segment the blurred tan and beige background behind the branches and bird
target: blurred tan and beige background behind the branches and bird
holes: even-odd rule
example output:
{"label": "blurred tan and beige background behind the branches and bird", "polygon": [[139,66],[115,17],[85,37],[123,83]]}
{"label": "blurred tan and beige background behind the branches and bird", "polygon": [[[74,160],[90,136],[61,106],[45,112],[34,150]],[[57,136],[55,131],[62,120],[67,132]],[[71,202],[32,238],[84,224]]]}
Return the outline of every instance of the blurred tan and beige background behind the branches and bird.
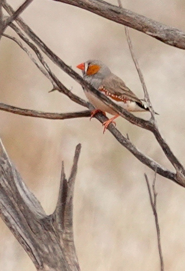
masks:
{"label": "blurred tan and beige background behind the branches and bird", "polygon": [[[116,0],[109,1],[117,4]],[[9,0],[17,8],[22,1]],[[126,0],[124,7],[182,30],[184,0]],[[54,1],[35,0],[22,18],[65,63],[75,68],[92,58],[104,61],[138,97],[142,87],[130,57],[124,27],[88,11]],[[8,33],[14,34],[11,30]],[[159,127],[185,164],[184,51],[130,30]],[[16,34],[15,34],[16,36]],[[48,93],[51,83],[13,41],[0,44],[0,101],[45,112],[82,110],[64,95]],[[82,88],[48,61],[66,87]],[[84,108],[85,109],[85,108]],[[149,114],[142,114],[149,118]],[[59,189],[61,161],[69,174],[75,146],[82,144],[74,197],[74,236],[81,270],[159,270],[154,217],[144,180],[153,172],[124,149],[97,120],[44,120],[0,112],[0,135],[25,183],[51,214]],[[173,170],[153,135],[119,118],[117,128],[157,162]],[[157,176],[157,209],[165,270],[185,268],[185,189]],[[0,270],[35,267],[0,222]]]}

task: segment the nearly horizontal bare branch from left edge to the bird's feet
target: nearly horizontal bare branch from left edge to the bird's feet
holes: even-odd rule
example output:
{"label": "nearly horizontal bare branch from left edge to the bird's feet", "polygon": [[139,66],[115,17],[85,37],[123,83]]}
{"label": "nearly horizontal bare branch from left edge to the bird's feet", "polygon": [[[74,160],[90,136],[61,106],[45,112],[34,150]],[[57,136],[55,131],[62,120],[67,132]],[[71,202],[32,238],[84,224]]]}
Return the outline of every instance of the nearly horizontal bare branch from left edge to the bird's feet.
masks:
{"label": "nearly horizontal bare branch from left edge to the bird's feet", "polygon": [[0,103],[0,110],[11,112],[14,114],[22,115],[22,116],[30,116],[36,118],[44,118],[50,120],[66,120],[72,118],[82,118],[82,117],[90,117],[90,111],[80,111],[80,112],[69,112],[69,113],[51,113],[51,112],[42,112],[31,109],[23,109],[11,105],[7,105],[5,103]]}

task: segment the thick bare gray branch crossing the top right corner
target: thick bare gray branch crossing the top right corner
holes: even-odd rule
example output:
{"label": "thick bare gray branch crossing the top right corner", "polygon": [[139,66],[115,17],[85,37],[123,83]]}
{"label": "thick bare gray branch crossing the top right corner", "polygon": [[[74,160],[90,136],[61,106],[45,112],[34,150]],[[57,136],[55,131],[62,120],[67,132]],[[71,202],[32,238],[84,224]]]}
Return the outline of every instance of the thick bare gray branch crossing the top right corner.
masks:
{"label": "thick bare gray branch crossing the top right corner", "polygon": [[[53,1],[53,0],[52,0]],[[185,49],[185,33],[174,27],[139,15],[128,9],[120,9],[102,0],[54,0],[91,11],[111,21],[141,31],[163,43]]]}

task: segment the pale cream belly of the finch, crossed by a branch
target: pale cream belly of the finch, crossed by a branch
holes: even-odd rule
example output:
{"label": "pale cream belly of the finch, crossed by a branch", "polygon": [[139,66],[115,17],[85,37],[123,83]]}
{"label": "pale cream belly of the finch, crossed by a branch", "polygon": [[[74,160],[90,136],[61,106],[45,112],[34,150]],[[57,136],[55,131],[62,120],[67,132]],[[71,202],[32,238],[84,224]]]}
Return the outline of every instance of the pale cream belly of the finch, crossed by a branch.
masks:
{"label": "pale cream belly of the finch, crossed by a branch", "polygon": [[[103,101],[101,101],[99,98],[91,94],[89,91],[84,91],[84,93],[87,99],[90,101],[90,103],[92,103],[92,105],[94,105],[96,109],[100,109],[112,115],[117,114],[113,109],[111,109],[108,105],[103,103]],[[111,98],[109,97],[109,99]],[[113,99],[111,100],[117,105],[120,105],[121,107],[126,109],[127,111],[131,111],[131,112],[145,111],[140,106],[138,106],[134,101],[126,101],[126,103],[124,103],[123,101],[115,101]]]}

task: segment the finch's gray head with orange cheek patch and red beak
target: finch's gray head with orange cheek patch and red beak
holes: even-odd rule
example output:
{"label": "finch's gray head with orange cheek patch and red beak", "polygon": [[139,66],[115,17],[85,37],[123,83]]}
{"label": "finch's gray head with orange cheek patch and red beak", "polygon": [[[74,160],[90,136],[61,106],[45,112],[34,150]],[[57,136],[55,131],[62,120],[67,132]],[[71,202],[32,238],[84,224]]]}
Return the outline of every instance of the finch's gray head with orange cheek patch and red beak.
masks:
{"label": "finch's gray head with orange cheek patch and red beak", "polygon": [[88,60],[76,67],[82,70],[84,79],[87,77],[104,79],[111,74],[110,69],[100,60]]}

